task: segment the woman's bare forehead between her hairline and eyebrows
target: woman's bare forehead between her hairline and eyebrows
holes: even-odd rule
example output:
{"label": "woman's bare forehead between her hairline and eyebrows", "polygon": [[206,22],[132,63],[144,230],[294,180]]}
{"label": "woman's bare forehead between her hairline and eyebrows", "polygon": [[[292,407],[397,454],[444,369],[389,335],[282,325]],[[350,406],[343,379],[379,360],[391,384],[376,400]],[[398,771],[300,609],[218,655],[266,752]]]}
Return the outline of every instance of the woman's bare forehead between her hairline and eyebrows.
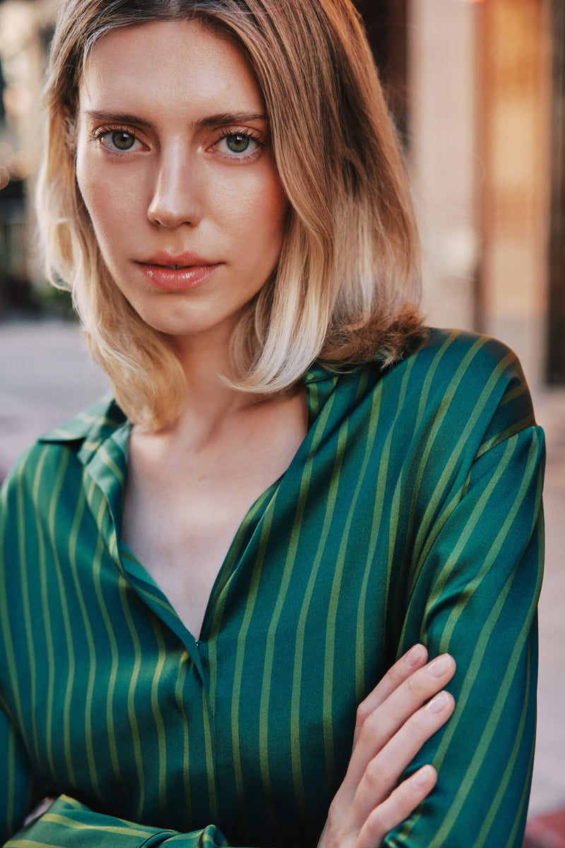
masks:
{"label": "woman's bare forehead between her hairline and eyebrows", "polygon": [[234,41],[198,20],[182,20],[124,27],[92,47],[80,82],[80,106],[102,109],[109,103],[123,103],[129,111],[136,104],[259,111],[263,97]]}

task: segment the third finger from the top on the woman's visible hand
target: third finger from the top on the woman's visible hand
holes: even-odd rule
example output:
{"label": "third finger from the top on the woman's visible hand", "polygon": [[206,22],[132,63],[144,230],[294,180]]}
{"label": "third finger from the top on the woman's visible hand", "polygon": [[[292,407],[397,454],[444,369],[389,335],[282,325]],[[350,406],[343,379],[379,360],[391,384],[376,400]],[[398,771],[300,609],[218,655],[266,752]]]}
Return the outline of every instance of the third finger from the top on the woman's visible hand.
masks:
{"label": "third finger from the top on the woman's visible hand", "polygon": [[353,801],[354,815],[364,822],[385,801],[418,750],[444,725],[455,706],[453,696],[440,692],[402,725],[390,742],[368,763]]}

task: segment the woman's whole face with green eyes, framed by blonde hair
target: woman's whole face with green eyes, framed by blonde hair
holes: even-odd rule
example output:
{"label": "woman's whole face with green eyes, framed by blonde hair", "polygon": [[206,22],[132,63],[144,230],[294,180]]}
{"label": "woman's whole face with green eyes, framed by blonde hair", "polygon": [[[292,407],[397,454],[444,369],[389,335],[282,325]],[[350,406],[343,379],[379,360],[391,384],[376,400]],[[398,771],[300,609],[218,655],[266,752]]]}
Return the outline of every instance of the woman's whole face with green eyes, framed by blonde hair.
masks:
{"label": "woman's whole face with green eyes, framed by blonde hair", "polygon": [[229,338],[274,270],[287,209],[238,48],[197,21],[104,36],[80,86],[76,175],[141,318],[173,336]]}

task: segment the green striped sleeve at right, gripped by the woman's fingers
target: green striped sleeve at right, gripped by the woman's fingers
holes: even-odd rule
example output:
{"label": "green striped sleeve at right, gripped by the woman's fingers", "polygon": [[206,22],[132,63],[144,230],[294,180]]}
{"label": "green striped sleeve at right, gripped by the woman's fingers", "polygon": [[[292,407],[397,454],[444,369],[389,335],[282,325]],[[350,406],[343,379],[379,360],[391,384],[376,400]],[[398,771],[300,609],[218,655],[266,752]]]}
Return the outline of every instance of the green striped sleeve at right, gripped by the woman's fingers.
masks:
{"label": "green striped sleeve at right, gripped by the woman's fingers", "polygon": [[542,460],[537,428],[486,449],[448,517],[420,528],[399,652],[421,640],[431,656],[456,658],[456,710],[408,770],[432,762],[437,789],[385,845],[522,845],[535,744]]}

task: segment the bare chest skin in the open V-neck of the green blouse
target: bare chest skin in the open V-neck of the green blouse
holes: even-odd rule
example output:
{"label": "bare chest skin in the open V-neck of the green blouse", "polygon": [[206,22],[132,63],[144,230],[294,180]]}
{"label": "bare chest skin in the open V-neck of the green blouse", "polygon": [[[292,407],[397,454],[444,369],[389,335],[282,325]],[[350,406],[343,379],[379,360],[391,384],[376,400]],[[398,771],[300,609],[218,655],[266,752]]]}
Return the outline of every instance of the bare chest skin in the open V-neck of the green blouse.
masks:
{"label": "bare chest skin in the open V-neck of the green blouse", "polygon": [[134,428],[122,536],[195,638],[235,533],[306,432],[303,392],[226,416],[192,444]]}

